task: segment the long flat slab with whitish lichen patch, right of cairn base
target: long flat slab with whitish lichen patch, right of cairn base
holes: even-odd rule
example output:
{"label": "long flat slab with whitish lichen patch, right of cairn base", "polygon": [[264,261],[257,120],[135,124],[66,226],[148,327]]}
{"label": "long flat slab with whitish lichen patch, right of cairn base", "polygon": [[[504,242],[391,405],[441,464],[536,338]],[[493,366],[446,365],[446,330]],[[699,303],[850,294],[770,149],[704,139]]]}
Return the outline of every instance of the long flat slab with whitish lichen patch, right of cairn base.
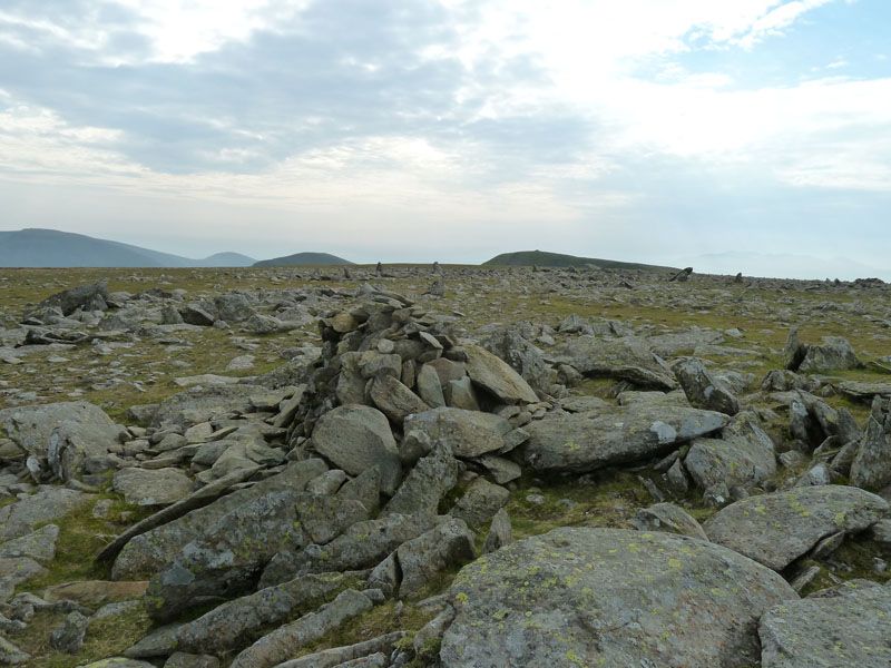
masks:
{"label": "long flat slab with whitish lichen patch, right of cairn base", "polygon": [[714,411],[646,404],[550,414],[525,428],[523,456],[537,471],[584,473],[663,454],[727,421]]}

